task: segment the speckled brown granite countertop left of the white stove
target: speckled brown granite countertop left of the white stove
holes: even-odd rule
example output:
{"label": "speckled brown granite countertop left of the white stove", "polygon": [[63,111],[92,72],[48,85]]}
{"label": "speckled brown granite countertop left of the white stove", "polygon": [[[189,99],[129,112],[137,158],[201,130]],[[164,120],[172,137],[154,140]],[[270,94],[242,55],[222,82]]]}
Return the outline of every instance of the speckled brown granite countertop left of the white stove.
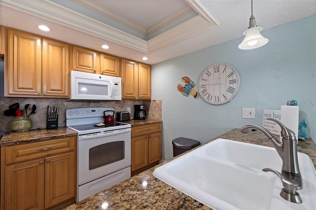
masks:
{"label": "speckled brown granite countertop left of the white stove", "polygon": [[67,127],[59,127],[58,129],[35,129],[17,133],[9,132],[5,133],[1,138],[0,146],[71,136],[77,136],[77,132]]}

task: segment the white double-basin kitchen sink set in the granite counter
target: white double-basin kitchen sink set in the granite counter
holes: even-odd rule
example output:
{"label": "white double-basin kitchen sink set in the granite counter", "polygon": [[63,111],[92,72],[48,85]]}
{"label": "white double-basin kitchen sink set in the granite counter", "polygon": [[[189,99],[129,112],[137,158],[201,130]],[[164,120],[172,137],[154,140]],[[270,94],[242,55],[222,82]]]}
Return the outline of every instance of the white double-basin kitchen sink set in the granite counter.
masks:
{"label": "white double-basin kitchen sink set in the granite counter", "polygon": [[263,168],[281,172],[273,147],[217,139],[160,167],[153,175],[217,210],[304,210],[316,207],[316,172],[310,157],[298,153],[303,203],[279,196],[281,180]]}

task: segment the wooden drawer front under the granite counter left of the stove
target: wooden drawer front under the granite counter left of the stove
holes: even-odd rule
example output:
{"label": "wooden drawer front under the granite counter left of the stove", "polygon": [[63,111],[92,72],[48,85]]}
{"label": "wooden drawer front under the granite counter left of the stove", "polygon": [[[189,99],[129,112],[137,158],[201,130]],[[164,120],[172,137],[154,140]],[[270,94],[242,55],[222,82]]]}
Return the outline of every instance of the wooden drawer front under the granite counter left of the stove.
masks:
{"label": "wooden drawer front under the granite counter left of the stove", "polygon": [[[5,163],[11,164],[75,149],[76,137],[68,137],[42,142],[25,143],[5,147]],[[2,150],[3,152],[3,150]]]}

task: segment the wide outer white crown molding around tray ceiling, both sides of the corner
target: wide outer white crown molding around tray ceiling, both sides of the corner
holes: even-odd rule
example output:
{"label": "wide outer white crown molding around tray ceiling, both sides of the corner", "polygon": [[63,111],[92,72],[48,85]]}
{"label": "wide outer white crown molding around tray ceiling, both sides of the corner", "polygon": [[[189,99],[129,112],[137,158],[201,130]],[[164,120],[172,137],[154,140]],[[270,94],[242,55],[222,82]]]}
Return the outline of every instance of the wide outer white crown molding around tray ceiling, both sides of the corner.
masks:
{"label": "wide outer white crown molding around tray ceiling, both sides of the corner", "polygon": [[203,12],[205,7],[198,0],[186,1],[194,2],[194,6],[198,7],[194,7],[194,9],[198,10],[199,14],[203,13],[203,16],[196,16],[148,41],[129,35],[49,0],[1,0],[1,5],[139,52],[148,53],[218,25],[218,22],[207,11]]}

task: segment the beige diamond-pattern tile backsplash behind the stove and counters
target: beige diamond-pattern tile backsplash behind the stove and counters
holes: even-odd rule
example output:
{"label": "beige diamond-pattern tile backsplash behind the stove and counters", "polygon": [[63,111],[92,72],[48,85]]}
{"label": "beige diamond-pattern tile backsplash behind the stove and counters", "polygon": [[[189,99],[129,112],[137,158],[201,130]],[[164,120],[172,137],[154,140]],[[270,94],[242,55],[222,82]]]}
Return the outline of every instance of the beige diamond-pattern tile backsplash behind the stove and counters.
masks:
{"label": "beige diamond-pattern tile backsplash behind the stove and counters", "polygon": [[49,98],[0,98],[0,132],[9,132],[10,122],[12,116],[5,116],[3,112],[8,109],[9,105],[14,103],[20,104],[20,109],[24,108],[24,105],[31,104],[36,105],[36,113],[30,115],[33,121],[32,129],[46,128],[46,112],[47,106],[58,105],[59,118],[58,126],[66,126],[65,112],[70,108],[79,107],[110,107],[114,108],[115,112],[127,111],[127,107],[131,107],[130,118],[134,117],[134,105],[146,105],[147,119],[162,119],[162,101],[161,100],[121,100],[111,102],[69,102],[65,99],[49,99]]}

